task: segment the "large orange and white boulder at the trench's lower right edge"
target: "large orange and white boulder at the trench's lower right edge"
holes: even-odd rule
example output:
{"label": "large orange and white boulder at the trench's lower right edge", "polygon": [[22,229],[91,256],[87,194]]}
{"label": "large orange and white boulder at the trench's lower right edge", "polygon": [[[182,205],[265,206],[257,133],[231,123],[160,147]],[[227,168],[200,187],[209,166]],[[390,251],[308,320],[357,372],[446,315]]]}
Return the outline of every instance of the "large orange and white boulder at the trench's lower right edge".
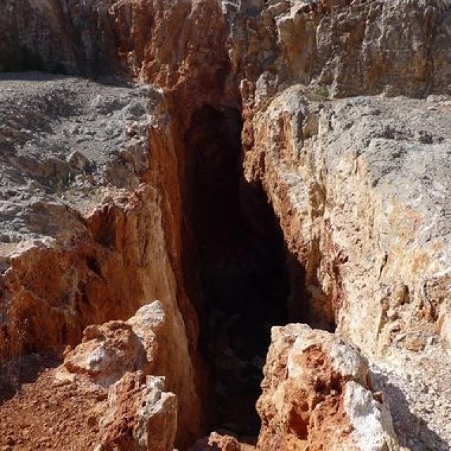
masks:
{"label": "large orange and white boulder at the trench's lower right edge", "polygon": [[273,328],[257,404],[258,449],[399,450],[368,369],[357,350],[330,333],[299,324]]}

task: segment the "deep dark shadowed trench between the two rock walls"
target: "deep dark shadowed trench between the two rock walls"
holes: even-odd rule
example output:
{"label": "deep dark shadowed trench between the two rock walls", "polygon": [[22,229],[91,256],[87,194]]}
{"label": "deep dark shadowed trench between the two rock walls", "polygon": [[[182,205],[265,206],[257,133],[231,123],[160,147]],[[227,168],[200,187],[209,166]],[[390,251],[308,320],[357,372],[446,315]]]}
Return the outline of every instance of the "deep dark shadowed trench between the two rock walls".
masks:
{"label": "deep dark shadowed trench between the two rock walls", "polygon": [[293,320],[288,300],[303,304],[305,293],[302,284],[290,288],[302,268],[285,250],[264,190],[242,176],[241,130],[237,109],[203,106],[192,116],[185,135],[185,220],[194,244],[185,261],[197,280],[191,298],[209,366],[209,427],[255,437],[271,327]]}

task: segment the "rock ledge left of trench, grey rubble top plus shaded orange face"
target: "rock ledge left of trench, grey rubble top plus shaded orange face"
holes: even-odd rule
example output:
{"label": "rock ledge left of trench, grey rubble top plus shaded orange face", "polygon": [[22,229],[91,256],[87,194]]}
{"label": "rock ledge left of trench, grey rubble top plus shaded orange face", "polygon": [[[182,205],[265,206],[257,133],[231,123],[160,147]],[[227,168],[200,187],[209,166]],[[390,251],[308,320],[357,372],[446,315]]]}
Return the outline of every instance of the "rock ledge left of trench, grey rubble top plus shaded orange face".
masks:
{"label": "rock ledge left of trench, grey rubble top plus shaded orange face", "polygon": [[[88,323],[126,319],[163,296],[140,300],[139,284],[109,276],[144,263],[125,243],[141,239],[145,221],[159,222],[158,209],[140,205],[158,202],[154,190],[130,198],[149,164],[145,88],[18,78],[1,84],[1,311],[23,329],[19,351],[27,352],[31,343],[75,345]],[[101,308],[110,302],[111,316]],[[8,323],[2,328],[13,338]]]}

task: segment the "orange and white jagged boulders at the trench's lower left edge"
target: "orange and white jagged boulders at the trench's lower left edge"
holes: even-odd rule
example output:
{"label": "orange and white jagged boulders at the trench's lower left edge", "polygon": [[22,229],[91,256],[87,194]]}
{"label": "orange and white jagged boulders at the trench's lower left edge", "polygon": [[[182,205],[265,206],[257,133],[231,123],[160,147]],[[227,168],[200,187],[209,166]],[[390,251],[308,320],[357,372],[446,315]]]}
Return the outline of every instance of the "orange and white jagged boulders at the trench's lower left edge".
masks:
{"label": "orange and white jagged boulders at the trench's lower left edge", "polygon": [[189,415],[195,413],[197,398],[187,380],[189,360],[180,350],[185,337],[176,335],[172,319],[161,302],[154,301],[127,322],[87,327],[83,342],[67,352],[56,381],[87,392],[99,385],[108,393],[107,406],[95,420],[97,450],[172,451],[177,433],[180,441],[180,433],[183,440],[183,434],[199,427],[192,417],[187,429],[181,424],[187,421],[190,402],[194,409]]}

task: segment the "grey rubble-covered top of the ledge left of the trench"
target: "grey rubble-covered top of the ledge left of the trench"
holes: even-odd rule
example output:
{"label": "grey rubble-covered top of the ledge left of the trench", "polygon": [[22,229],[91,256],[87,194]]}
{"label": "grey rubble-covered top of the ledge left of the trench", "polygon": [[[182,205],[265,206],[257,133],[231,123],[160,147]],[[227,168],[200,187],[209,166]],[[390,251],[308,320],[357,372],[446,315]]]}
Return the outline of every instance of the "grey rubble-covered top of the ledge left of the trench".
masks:
{"label": "grey rubble-covered top of the ledge left of the trench", "polygon": [[118,83],[42,73],[1,75],[4,248],[61,232],[57,221],[39,222],[39,205],[86,212],[101,202],[107,187],[137,187],[148,164],[152,101],[148,87]]}

